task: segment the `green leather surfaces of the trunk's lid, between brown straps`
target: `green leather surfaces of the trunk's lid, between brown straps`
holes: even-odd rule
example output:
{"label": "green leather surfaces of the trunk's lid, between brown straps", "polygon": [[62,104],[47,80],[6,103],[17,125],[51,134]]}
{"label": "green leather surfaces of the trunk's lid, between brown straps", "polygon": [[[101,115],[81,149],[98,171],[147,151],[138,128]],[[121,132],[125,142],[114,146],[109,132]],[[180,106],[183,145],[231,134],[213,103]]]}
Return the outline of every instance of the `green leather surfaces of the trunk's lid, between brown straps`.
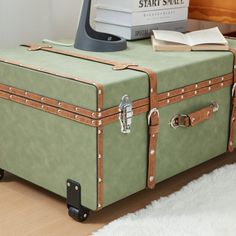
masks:
{"label": "green leather surfaces of the trunk's lid, between brown straps", "polygon": [[[68,47],[58,48],[148,67],[158,74],[159,93],[230,73],[233,64],[230,52],[154,52],[150,40],[130,42],[128,49],[120,52],[94,53]],[[149,96],[149,81],[144,73],[113,71],[109,65],[44,51],[30,52],[25,47],[2,49],[0,58],[101,83],[105,91],[104,108],[117,106],[124,94],[128,94],[132,100]],[[94,109],[97,104],[93,86],[71,81],[68,83],[65,79],[55,80],[53,76],[0,63],[0,83],[4,81],[22,89],[27,86],[29,91],[51,95],[88,109]],[[91,99],[88,100],[86,95]]]}

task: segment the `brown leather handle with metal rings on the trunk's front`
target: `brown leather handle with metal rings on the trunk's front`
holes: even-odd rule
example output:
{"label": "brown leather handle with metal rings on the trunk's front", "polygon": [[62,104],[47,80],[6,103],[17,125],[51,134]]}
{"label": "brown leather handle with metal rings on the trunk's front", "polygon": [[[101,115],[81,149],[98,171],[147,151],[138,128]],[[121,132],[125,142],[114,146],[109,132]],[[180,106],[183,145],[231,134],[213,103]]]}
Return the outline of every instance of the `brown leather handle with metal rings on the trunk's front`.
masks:
{"label": "brown leather handle with metal rings on the trunk's front", "polygon": [[178,127],[194,127],[206,120],[213,117],[213,113],[219,110],[219,105],[216,102],[211,103],[209,106],[204,107],[198,111],[192,112],[190,114],[179,114],[175,115],[171,121],[170,125],[172,128],[176,129]]}

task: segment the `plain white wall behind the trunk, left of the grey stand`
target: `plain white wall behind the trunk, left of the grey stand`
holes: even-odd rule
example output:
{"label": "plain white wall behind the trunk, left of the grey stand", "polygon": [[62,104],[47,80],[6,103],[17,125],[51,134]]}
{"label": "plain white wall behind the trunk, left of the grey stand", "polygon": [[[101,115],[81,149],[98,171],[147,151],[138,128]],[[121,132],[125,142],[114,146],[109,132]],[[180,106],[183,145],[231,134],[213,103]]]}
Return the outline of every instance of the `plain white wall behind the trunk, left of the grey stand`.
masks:
{"label": "plain white wall behind the trunk, left of the grey stand", "polygon": [[82,0],[0,0],[0,48],[73,39]]}

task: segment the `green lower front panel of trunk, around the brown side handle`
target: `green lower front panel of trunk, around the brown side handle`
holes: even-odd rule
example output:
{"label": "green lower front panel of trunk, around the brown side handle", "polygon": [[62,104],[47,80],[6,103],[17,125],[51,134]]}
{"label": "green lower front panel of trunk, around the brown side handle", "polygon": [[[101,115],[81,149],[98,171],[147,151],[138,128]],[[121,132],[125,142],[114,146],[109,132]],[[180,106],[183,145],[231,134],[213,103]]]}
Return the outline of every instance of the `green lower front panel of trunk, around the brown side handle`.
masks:
{"label": "green lower front panel of trunk, around the brown side handle", "polygon": [[[169,122],[174,115],[200,110],[213,101],[220,109],[212,119],[195,127],[171,128]],[[229,87],[161,108],[156,182],[226,152],[229,112]],[[121,134],[119,129],[119,122],[104,128],[105,206],[146,187],[147,114],[133,119],[131,134]]]}

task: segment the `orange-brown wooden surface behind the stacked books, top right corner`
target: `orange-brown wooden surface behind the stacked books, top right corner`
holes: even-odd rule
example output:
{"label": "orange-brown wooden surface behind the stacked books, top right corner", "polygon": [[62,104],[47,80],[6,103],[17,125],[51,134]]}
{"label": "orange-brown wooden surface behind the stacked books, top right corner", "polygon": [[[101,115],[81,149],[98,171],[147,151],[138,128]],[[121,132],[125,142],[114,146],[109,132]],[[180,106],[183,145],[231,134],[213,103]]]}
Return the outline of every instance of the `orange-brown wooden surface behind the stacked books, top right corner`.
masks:
{"label": "orange-brown wooden surface behind the stacked books, top right corner", "polygon": [[190,0],[189,18],[236,24],[235,0]]}

